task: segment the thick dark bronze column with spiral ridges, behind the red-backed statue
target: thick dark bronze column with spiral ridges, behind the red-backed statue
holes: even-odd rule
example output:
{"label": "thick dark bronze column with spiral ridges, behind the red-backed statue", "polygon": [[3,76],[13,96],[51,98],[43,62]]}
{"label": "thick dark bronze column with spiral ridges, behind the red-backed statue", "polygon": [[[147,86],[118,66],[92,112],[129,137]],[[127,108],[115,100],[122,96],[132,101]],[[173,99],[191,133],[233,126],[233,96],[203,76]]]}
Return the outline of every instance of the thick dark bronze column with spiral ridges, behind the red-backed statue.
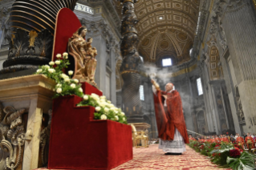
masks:
{"label": "thick dark bronze column with spiral ridges, behind the red-backed statue", "polygon": [[[78,0],[16,0],[10,10],[8,59],[1,74],[35,69],[51,61],[55,22],[62,8]],[[63,27],[65,29],[65,26]]]}

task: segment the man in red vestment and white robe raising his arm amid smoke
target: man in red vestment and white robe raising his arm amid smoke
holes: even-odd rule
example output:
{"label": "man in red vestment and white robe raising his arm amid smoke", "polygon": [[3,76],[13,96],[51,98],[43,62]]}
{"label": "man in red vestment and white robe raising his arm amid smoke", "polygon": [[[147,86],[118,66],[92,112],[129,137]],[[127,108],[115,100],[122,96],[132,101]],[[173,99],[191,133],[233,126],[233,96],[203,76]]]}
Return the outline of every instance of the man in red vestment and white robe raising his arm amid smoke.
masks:
{"label": "man in red vestment and white robe raising his arm amid smoke", "polygon": [[161,139],[159,148],[165,155],[181,154],[185,152],[185,144],[189,144],[189,136],[185,126],[181,96],[173,90],[173,84],[167,83],[165,91],[152,79],[154,105],[158,137]]}

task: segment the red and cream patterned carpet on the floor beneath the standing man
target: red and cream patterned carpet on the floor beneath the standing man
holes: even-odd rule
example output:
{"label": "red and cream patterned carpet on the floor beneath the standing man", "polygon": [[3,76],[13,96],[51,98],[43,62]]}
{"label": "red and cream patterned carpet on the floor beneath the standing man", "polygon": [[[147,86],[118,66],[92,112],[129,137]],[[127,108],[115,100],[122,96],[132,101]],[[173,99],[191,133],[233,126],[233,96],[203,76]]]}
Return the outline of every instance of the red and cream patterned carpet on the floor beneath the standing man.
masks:
{"label": "red and cream patterned carpet on the floor beneath the standing man", "polygon": [[[112,170],[213,170],[228,168],[218,168],[212,164],[206,156],[195,152],[192,148],[186,146],[187,152],[181,156],[165,156],[162,150],[158,149],[158,144],[151,144],[149,148],[133,148],[133,160],[130,160]],[[125,153],[124,153],[125,154]],[[46,168],[39,168],[47,170]],[[52,169],[51,169],[52,170]]]}

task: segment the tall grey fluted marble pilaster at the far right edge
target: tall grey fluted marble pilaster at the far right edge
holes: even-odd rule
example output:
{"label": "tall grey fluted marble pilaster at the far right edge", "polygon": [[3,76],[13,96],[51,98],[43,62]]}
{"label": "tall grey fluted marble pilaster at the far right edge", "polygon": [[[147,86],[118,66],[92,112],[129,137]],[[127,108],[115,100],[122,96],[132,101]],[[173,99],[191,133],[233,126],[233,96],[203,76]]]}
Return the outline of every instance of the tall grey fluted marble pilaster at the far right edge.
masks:
{"label": "tall grey fluted marble pilaster at the far right edge", "polygon": [[[225,30],[234,75],[246,119],[246,131],[256,131],[256,25],[251,6],[245,1],[232,1],[221,6],[224,14],[221,22]],[[237,66],[235,66],[237,64]]]}

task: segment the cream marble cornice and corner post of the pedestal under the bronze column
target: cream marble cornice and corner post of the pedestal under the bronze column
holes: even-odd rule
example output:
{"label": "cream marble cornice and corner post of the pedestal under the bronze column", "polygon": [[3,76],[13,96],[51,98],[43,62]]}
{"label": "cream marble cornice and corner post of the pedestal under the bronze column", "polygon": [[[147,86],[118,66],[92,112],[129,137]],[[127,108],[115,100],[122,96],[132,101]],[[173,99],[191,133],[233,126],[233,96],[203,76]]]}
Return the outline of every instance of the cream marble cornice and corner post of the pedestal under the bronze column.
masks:
{"label": "cream marble cornice and corner post of the pedestal under the bronze column", "polygon": [[3,106],[28,109],[26,130],[31,130],[33,137],[25,141],[22,169],[38,168],[42,118],[51,109],[54,86],[55,82],[44,75],[0,80]]}

